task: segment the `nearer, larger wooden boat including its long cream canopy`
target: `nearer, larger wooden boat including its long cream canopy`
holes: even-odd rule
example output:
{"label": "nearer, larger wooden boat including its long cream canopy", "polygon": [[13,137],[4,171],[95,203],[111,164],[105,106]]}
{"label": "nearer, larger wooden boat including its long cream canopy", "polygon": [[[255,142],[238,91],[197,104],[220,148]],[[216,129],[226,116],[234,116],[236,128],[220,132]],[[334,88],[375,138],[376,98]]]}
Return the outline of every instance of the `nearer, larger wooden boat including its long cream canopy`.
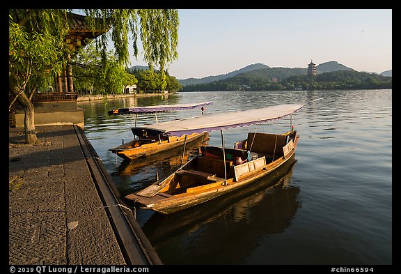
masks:
{"label": "nearer, larger wooden boat including its long cream canopy", "polygon": [[301,107],[277,105],[155,125],[173,135],[220,130],[222,147],[202,146],[200,155],[173,174],[125,198],[141,208],[169,214],[226,195],[267,176],[294,157],[299,135],[293,126],[283,134],[249,132],[247,139],[234,144],[235,149],[224,148],[223,129],[266,123],[290,115],[292,123],[292,114]]}

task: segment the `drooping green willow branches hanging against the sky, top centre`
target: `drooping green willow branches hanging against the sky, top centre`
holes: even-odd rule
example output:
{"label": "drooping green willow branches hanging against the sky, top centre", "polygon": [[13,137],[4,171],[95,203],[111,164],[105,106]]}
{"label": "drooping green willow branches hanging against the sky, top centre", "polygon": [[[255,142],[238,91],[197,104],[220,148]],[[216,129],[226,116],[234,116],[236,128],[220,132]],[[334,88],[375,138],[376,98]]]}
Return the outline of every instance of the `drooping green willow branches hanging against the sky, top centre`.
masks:
{"label": "drooping green willow branches hanging against the sky, top centre", "polygon": [[[141,38],[144,60],[150,68],[159,66],[163,72],[167,63],[178,58],[178,10],[85,9],[84,13],[93,29],[112,26],[108,33],[97,39],[97,48],[102,56],[107,52],[107,38],[111,38],[118,63],[127,66],[129,40],[137,57],[138,38]],[[131,37],[129,33],[132,33]]]}

